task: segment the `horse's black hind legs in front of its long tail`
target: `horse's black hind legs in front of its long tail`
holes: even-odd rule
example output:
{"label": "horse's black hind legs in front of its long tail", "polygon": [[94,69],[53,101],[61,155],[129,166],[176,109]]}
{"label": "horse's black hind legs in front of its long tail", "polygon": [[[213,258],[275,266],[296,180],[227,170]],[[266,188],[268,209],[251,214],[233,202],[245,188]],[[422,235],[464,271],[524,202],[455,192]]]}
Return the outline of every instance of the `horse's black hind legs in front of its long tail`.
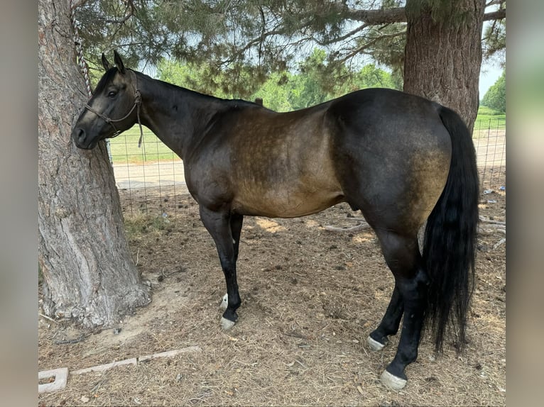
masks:
{"label": "horse's black hind legs in front of its long tail", "polygon": [[[381,381],[394,390],[400,390],[408,380],[404,370],[418,357],[418,346],[425,316],[428,275],[422,267],[417,235],[406,237],[391,230],[376,229],[383,256],[395,277],[390,307],[384,321],[376,329],[381,333],[398,329],[398,320],[404,311],[403,329],[393,361],[381,375]],[[375,332],[376,332],[375,331]],[[374,337],[376,338],[376,337]]]}

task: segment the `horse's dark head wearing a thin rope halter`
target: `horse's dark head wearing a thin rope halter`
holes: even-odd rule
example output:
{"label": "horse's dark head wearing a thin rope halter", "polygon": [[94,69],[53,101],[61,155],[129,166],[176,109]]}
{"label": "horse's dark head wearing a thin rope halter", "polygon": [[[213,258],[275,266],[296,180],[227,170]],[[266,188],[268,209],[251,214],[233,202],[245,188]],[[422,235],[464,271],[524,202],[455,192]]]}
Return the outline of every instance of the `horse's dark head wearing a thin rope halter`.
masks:
{"label": "horse's dark head wearing a thin rope halter", "polygon": [[136,74],[125,69],[116,51],[114,61],[115,67],[110,67],[102,54],[106,73],[72,129],[72,138],[77,147],[90,150],[99,140],[115,137],[136,123],[141,103]]}

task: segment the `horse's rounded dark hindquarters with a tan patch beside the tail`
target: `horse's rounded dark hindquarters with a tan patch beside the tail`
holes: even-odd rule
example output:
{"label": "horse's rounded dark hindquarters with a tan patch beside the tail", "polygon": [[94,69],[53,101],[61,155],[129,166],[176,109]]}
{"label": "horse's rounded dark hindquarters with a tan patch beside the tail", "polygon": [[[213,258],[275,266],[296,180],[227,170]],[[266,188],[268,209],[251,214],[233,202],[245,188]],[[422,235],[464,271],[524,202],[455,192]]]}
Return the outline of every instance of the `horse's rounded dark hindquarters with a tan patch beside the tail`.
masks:
{"label": "horse's rounded dark hindquarters with a tan patch beside the tail", "polygon": [[363,95],[330,109],[337,178],[374,228],[415,235],[446,184],[450,134],[430,101],[417,98],[421,106],[413,106],[414,96],[386,92],[365,104]]}

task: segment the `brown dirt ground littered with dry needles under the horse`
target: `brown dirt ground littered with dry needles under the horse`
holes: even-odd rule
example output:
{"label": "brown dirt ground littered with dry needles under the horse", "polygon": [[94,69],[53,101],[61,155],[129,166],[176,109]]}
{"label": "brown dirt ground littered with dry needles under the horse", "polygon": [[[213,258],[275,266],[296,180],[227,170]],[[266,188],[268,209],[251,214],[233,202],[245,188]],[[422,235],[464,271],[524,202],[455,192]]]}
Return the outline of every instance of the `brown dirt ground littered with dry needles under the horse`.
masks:
{"label": "brown dirt ground littered with dry needles under the horse", "polygon": [[[504,179],[491,186],[494,192],[482,193],[481,216],[506,221],[500,185]],[[506,235],[497,228],[484,225],[479,236],[467,349],[457,355],[450,341],[435,355],[424,335],[418,360],[406,370],[406,388],[394,392],[379,375],[398,338],[382,352],[365,344],[386,310],[391,272],[370,230],[325,230],[356,225],[352,217],[359,213],[340,204],[305,218],[246,218],[240,318],[222,331],[224,279],[197,205],[187,195],[161,198],[161,205],[156,212],[175,216],[126,217],[152,303],[99,333],[40,318],[38,369],[73,371],[190,346],[202,351],[71,374],[62,391],[40,394],[40,406],[506,404]],[[114,335],[112,328],[121,332]],[[82,335],[88,336],[65,343]]]}

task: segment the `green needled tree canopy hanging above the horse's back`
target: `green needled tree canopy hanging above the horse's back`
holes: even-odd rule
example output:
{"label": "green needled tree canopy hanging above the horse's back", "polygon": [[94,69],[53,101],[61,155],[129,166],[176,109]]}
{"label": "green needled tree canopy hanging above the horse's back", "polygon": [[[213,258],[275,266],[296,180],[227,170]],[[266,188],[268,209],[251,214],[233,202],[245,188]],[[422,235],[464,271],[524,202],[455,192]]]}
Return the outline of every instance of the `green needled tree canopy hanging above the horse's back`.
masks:
{"label": "green needled tree canopy hanging above the horse's back", "polygon": [[[483,1],[483,0],[482,0]],[[369,62],[402,77],[406,43],[403,0],[82,0],[85,50],[99,67],[103,51],[122,49],[127,65],[157,65],[163,57],[205,66],[218,89],[249,96],[273,72],[297,69],[315,48],[325,52],[320,84],[334,88],[346,72]],[[430,7],[433,18],[455,11],[455,1],[411,0]],[[488,0],[484,57],[505,48],[505,0]],[[459,21],[463,15],[459,12]],[[347,67],[347,71],[345,71]],[[328,82],[328,83],[327,83]],[[397,80],[398,82],[398,80]],[[225,89],[227,87],[228,89]]]}

